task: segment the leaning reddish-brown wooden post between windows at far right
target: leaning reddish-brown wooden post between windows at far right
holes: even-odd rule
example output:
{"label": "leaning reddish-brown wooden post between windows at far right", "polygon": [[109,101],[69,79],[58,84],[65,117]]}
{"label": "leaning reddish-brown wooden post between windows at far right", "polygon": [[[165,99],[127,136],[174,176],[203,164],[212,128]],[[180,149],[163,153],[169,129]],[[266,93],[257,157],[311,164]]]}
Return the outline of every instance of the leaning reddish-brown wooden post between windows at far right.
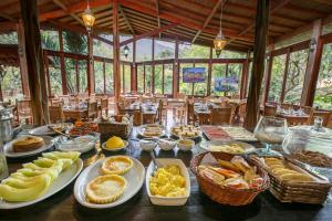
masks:
{"label": "leaning reddish-brown wooden post between windows at far right", "polygon": [[314,49],[309,49],[309,59],[307,63],[307,70],[304,75],[303,91],[301,97],[301,105],[312,106],[314,99],[314,93],[320,71],[320,61],[322,56],[322,44],[320,43],[320,36],[322,33],[322,20],[313,22],[311,41],[315,42]]}

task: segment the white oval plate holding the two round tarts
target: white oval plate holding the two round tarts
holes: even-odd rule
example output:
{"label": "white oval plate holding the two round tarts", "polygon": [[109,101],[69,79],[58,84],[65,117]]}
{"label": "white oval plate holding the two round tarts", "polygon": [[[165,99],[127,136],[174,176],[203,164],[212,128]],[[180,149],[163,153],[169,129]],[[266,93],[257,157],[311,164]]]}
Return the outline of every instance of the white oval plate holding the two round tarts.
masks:
{"label": "white oval plate holding the two round tarts", "polygon": [[85,188],[91,180],[93,180],[95,177],[101,175],[100,169],[105,159],[101,159],[95,164],[85,168],[84,171],[76,179],[75,187],[74,187],[74,196],[80,204],[93,209],[113,208],[128,201],[142,188],[145,178],[145,168],[139,160],[131,157],[131,159],[134,162],[134,166],[127,173],[123,175],[123,177],[127,180],[127,187],[123,196],[115,202],[111,202],[106,204],[96,204],[86,201]]}

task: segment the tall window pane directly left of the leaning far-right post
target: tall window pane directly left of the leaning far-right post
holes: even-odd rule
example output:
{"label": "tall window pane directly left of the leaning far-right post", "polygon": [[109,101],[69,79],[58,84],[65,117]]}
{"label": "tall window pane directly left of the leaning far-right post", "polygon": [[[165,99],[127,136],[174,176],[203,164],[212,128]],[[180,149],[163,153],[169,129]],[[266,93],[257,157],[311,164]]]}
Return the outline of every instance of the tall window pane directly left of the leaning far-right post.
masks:
{"label": "tall window pane directly left of the leaning far-right post", "polygon": [[308,50],[292,52],[284,91],[284,103],[300,103],[308,61]]}

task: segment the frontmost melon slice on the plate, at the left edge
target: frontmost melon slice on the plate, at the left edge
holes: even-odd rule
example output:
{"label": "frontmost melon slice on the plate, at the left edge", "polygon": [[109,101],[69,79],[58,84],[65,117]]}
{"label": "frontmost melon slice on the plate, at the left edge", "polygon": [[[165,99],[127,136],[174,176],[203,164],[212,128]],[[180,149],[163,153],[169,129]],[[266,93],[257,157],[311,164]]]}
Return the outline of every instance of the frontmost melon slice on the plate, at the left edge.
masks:
{"label": "frontmost melon slice on the plate, at the left edge", "polygon": [[19,189],[10,187],[8,185],[0,185],[0,198],[10,202],[24,202],[37,199],[39,196],[44,193],[50,183],[50,176],[42,175],[38,176],[34,180],[35,185],[25,189]]}

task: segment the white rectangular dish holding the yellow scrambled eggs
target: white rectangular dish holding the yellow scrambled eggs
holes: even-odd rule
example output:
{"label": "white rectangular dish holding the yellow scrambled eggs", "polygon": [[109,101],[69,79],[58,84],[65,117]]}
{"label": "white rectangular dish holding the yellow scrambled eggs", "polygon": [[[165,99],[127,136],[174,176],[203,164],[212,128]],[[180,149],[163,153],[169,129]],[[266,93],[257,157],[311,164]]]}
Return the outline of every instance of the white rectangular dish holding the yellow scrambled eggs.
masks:
{"label": "white rectangular dish holding the yellow scrambled eggs", "polygon": [[180,169],[181,176],[186,179],[186,190],[187,194],[185,197],[156,197],[153,196],[149,191],[149,178],[152,177],[153,170],[154,170],[154,162],[152,161],[146,170],[146,177],[145,177],[145,186],[146,191],[149,197],[149,200],[153,204],[158,206],[183,206],[187,202],[189,196],[190,196],[190,178],[189,172],[180,159],[173,159],[173,158],[157,158],[157,162],[162,166],[168,166],[168,165],[176,165]]}

